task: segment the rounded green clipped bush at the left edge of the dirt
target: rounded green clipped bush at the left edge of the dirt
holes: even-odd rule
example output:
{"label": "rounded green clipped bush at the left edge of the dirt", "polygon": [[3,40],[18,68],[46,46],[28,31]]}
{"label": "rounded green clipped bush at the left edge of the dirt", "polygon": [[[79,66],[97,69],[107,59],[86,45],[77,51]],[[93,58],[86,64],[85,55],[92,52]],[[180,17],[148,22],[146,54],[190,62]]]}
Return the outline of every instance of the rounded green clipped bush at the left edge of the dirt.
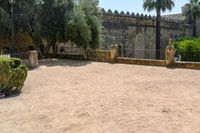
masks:
{"label": "rounded green clipped bush at the left edge of the dirt", "polygon": [[27,67],[16,58],[0,58],[0,93],[20,93],[27,77]]}

